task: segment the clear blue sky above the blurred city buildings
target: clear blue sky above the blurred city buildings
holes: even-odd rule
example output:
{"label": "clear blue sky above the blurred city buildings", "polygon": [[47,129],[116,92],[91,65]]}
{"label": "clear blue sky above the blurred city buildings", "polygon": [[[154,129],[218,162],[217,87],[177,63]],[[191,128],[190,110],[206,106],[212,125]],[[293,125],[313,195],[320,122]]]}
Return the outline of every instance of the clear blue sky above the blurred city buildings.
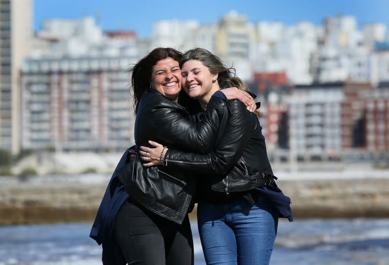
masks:
{"label": "clear blue sky above the blurred city buildings", "polygon": [[197,20],[211,24],[228,11],[236,10],[250,22],[281,21],[287,25],[302,20],[319,25],[326,16],[352,15],[359,26],[381,22],[389,31],[388,0],[33,0],[33,3],[35,30],[49,18],[94,16],[105,30],[135,30],[140,36],[148,36],[157,20]]}

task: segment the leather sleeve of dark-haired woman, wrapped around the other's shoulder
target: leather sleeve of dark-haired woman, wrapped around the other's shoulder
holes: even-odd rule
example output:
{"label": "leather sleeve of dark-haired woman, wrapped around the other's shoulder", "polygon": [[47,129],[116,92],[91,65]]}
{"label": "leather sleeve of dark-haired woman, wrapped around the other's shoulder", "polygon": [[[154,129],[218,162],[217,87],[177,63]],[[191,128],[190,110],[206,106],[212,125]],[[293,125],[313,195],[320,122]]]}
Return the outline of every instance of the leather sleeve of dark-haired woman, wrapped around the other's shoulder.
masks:
{"label": "leather sleeve of dark-haired woman, wrapped around the other's shoulder", "polygon": [[157,132],[156,141],[197,153],[210,152],[219,137],[219,130],[223,130],[227,123],[226,104],[226,100],[212,96],[207,109],[197,116],[189,116],[166,105],[153,109],[150,124]]}

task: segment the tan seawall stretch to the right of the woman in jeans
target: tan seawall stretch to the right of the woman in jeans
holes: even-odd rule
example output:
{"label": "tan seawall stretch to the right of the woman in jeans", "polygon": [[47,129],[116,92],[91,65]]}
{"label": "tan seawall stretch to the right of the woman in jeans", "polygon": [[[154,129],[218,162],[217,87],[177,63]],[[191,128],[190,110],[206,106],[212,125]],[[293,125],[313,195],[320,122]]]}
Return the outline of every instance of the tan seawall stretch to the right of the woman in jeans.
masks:
{"label": "tan seawall stretch to the right of the woman in jeans", "polygon": [[295,218],[389,217],[389,179],[280,181]]}

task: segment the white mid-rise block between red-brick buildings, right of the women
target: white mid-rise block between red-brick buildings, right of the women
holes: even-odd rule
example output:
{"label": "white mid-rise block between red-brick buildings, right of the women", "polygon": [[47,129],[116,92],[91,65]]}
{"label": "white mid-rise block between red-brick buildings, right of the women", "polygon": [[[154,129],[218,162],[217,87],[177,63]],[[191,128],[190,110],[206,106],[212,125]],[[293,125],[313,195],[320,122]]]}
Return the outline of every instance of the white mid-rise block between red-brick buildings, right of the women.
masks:
{"label": "white mid-rise block between red-brick buildings, right of the women", "polygon": [[296,156],[336,157],[341,154],[342,84],[297,86],[287,97],[289,146]]}

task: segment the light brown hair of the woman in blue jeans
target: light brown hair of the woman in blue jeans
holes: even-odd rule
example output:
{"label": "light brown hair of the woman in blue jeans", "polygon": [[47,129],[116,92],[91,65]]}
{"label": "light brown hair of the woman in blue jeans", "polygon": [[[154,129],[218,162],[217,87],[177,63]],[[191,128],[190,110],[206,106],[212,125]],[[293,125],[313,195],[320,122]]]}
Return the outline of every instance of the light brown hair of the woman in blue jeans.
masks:
{"label": "light brown hair of the woman in blue jeans", "polygon": [[[227,67],[223,61],[210,51],[203,48],[195,48],[185,52],[179,60],[180,68],[189,60],[199,60],[204,66],[208,67],[212,74],[218,74],[217,82],[221,89],[228,87],[237,87],[241,90],[247,90],[245,83],[237,76],[233,67]],[[255,110],[255,115],[262,117],[262,113]]]}

